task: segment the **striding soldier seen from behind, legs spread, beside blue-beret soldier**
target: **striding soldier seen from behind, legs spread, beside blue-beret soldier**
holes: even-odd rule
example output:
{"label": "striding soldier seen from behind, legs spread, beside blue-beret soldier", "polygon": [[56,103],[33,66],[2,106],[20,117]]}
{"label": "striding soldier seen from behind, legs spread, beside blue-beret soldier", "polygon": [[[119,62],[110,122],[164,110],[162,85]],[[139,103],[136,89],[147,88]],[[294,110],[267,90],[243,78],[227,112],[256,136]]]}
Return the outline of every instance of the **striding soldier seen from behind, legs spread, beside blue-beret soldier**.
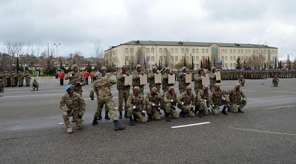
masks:
{"label": "striding soldier seen from behind, legs spread, beside blue-beret soldier", "polygon": [[[106,67],[105,67],[106,68]],[[104,70],[104,67],[101,68],[102,71]],[[122,130],[125,129],[124,126],[121,126],[118,122],[118,118],[116,116],[115,111],[115,103],[112,100],[113,96],[110,90],[110,86],[113,84],[116,84],[115,79],[111,79],[108,76],[102,77],[100,73],[96,73],[96,81],[93,82],[90,90],[89,97],[91,100],[94,100],[94,92],[97,94],[97,102],[98,107],[96,109],[96,113],[94,114],[94,120],[92,122],[93,125],[98,124],[97,118],[100,116],[103,106],[105,105],[105,109],[107,108],[110,111],[110,116],[112,118],[112,121],[115,124],[114,130]],[[102,74],[103,75],[103,74]],[[108,112],[107,112],[108,115]]]}

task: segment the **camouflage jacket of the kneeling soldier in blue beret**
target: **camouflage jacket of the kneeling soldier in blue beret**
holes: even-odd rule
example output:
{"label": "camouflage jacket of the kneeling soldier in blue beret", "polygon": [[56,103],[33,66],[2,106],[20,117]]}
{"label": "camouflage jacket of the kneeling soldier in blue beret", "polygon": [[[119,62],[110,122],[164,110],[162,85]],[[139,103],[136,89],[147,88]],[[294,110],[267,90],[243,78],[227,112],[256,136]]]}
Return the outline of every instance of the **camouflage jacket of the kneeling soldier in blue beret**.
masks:
{"label": "camouflage jacket of the kneeling soldier in blue beret", "polygon": [[[65,107],[65,104],[67,107]],[[75,92],[73,92],[73,95],[65,93],[62,96],[59,105],[59,108],[63,111],[67,112],[68,110],[73,110],[75,114],[79,114],[81,116],[83,116],[86,106],[82,96]]]}

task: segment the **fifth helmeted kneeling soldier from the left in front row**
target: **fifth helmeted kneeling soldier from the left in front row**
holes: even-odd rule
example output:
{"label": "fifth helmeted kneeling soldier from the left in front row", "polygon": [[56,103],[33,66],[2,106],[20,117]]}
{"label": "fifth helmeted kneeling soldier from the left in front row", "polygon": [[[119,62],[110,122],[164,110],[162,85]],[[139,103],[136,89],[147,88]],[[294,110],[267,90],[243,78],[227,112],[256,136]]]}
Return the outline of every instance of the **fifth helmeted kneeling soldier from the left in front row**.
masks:
{"label": "fifth helmeted kneeling soldier from the left in front row", "polygon": [[[210,101],[209,101],[209,87],[204,85],[202,90],[197,92],[195,97],[195,110],[194,114],[198,111],[198,117],[208,116],[210,114]],[[205,107],[207,104],[207,108]]]}

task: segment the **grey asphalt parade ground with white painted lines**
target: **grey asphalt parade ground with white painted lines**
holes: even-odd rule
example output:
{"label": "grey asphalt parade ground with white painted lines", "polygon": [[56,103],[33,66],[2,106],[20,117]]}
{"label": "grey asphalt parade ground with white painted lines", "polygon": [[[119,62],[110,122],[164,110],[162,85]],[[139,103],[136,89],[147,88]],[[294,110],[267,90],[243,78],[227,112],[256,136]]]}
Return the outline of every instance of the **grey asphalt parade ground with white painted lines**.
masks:
{"label": "grey asphalt parade ground with white painted lines", "polygon": [[[226,116],[220,107],[218,116],[167,122],[161,111],[160,121],[135,126],[123,117],[119,122],[126,129],[114,131],[104,110],[99,124],[91,124],[97,101],[89,98],[89,79],[83,86],[83,129],[71,123],[68,134],[58,125],[64,122],[59,101],[68,80],[60,86],[58,79],[37,78],[38,91],[8,87],[0,93],[0,163],[296,163],[296,78],[279,80],[279,87],[270,87],[271,78],[246,79],[245,113]],[[221,88],[237,82],[221,81]],[[178,82],[174,87],[179,96]],[[146,85],[144,95],[148,91]],[[118,113],[116,85],[111,92]]]}

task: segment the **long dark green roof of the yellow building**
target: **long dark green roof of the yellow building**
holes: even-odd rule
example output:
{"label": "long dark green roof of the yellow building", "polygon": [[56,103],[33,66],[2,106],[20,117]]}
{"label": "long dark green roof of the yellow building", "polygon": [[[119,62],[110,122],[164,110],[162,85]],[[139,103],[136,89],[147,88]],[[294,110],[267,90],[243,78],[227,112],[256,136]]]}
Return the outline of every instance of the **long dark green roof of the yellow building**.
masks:
{"label": "long dark green roof of the yellow building", "polygon": [[[133,40],[130,42],[126,42],[120,45],[149,45],[149,46],[210,46],[213,43],[211,42],[174,42],[174,41],[151,41],[151,40]],[[242,43],[215,43],[220,47],[248,47],[248,48],[276,48],[276,47],[270,47],[266,45],[259,45],[259,44],[242,44]],[[118,46],[120,46],[118,45]],[[115,48],[117,46],[112,46],[112,48]],[[110,48],[111,49],[111,48]],[[109,49],[108,49],[109,50]],[[107,50],[106,50],[107,51]]]}

